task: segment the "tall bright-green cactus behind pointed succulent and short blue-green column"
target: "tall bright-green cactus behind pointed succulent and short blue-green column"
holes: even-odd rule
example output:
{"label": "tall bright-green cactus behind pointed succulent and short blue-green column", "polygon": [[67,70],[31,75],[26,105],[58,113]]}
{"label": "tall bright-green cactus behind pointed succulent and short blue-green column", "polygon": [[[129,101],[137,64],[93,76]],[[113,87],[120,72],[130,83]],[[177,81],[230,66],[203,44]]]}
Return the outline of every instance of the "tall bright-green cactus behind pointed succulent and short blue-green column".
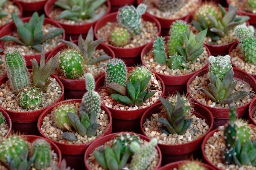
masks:
{"label": "tall bright-green cactus behind pointed succulent and short blue-green column", "polygon": [[188,24],[183,20],[176,20],[172,23],[170,31],[169,31],[169,41],[168,41],[168,54],[169,56],[173,56],[177,53],[177,46],[183,45],[183,32],[188,31]]}

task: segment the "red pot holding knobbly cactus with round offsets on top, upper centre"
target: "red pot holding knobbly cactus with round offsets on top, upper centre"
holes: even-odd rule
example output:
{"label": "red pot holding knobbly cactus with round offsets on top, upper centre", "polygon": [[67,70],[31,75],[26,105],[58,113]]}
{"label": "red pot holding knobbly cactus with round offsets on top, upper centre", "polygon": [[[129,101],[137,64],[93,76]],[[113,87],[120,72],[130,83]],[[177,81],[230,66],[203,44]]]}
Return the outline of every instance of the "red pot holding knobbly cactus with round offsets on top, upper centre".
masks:
{"label": "red pot holding knobbly cactus with round offsets on top, upper centre", "polygon": [[[95,35],[96,39],[99,39],[99,37],[97,35],[97,31],[100,28],[102,28],[103,26],[105,26],[106,23],[108,23],[108,22],[116,23],[116,14],[117,14],[117,12],[108,14],[105,17],[102,17],[102,19],[100,19],[99,22],[96,23],[96,25],[94,27],[94,35]],[[150,21],[152,23],[156,23],[156,26],[158,27],[158,30],[159,30],[157,35],[160,36],[161,26],[160,26],[159,21],[157,19],[155,19],[154,17],[151,17],[148,14],[144,14],[142,16],[142,18],[145,21]],[[153,41],[154,40],[152,40],[151,42],[148,42],[148,43],[152,43]],[[119,47],[114,47],[114,46],[108,45],[108,44],[106,44],[106,45],[113,50],[113,52],[116,54],[116,57],[119,57],[122,60],[124,60],[125,64],[127,66],[134,66],[134,65],[136,65],[136,63],[140,62],[140,57],[139,57],[140,53],[147,44],[144,44],[144,45],[141,45],[141,46],[135,47],[135,48],[119,48]]]}

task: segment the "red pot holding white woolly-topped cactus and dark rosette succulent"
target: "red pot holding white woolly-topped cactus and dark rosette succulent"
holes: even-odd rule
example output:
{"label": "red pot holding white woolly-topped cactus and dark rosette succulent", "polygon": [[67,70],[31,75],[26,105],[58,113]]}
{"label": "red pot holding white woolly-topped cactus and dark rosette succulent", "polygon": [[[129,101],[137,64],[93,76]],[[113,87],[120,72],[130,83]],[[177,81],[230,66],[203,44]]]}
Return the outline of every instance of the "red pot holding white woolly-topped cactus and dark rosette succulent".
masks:
{"label": "red pot holding white woolly-topped cactus and dark rosette succulent", "polygon": [[[246,73],[245,71],[242,71],[238,68],[233,68],[234,71],[234,79],[239,79],[243,82],[247,82],[252,88],[252,91],[256,90],[256,80],[248,73]],[[196,77],[200,77],[203,76],[204,74],[208,73],[208,69],[205,68],[204,70],[201,70],[200,72],[198,72],[197,74],[194,74],[190,79],[189,82],[187,83],[187,91],[189,93],[189,96],[192,97],[192,99],[197,102],[199,105],[204,106],[205,108],[209,109],[209,111],[212,113],[213,117],[214,117],[214,126],[213,127],[218,127],[218,126],[222,126],[225,125],[229,119],[229,109],[228,108],[213,108],[210,107],[208,105],[204,105],[201,102],[198,102],[197,99],[194,98],[194,96],[191,95],[191,93],[189,92],[189,85],[191,84],[191,82],[196,78]],[[239,106],[236,108],[236,112],[238,117],[244,116],[248,113],[248,108],[250,105],[251,101],[248,102],[245,105]]]}

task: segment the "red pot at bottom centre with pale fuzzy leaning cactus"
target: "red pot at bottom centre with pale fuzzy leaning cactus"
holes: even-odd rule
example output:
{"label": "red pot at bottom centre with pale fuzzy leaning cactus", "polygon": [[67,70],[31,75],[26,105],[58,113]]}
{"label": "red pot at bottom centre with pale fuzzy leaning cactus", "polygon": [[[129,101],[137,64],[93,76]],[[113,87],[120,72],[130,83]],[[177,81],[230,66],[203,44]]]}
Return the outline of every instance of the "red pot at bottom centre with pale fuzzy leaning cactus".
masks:
{"label": "red pot at bottom centre with pale fuzzy leaning cactus", "polygon": [[[113,139],[115,136],[117,136],[119,133],[112,133],[112,134],[109,134],[107,136],[104,136],[102,137],[101,139],[96,139],[88,148],[87,150],[85,151],[85,154],[84,154],[84,164],[85,164],[85,167],[86,167],[86,170],[90,170],[88,164],[87,164],[87,159],[89,158],[89,155],[91,153],[93,153],[94,149],[96,147],[99,147],[101,146],[102,144],[105,144],[106,142],[110,141],[111,139]],[[140,136],[140,139],[143,139],[145,141],[150,141],[150,139],[148,137],[145,137],[143,135],[140,135],[140,134],[136,134],[137,136]],[[158,169],[159,167],[161,167],[161,161],[162,161],[162,156],[161,156],[161,151],[159,149],[158,146],[156,146],[157,148],[157,152],[158,152],[158,155],[159,155],[159,161],[158,161],[158,164],[157,164],[157,168]]]}

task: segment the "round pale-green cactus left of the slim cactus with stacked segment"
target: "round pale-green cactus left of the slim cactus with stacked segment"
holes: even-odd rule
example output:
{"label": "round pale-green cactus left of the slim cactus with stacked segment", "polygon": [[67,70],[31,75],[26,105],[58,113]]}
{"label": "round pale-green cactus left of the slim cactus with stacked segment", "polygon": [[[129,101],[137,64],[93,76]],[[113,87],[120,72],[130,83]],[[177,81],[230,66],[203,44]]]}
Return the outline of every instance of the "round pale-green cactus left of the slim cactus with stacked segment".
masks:
{"label": "round pale-green cactus left of the slim cactus with stacked segment", "polygon": [[54,110],[54,120],[58,128],[67,129],[71,127],[67,119],[67,112],[76,113],[76,108],[73,105],[60,105]]}

